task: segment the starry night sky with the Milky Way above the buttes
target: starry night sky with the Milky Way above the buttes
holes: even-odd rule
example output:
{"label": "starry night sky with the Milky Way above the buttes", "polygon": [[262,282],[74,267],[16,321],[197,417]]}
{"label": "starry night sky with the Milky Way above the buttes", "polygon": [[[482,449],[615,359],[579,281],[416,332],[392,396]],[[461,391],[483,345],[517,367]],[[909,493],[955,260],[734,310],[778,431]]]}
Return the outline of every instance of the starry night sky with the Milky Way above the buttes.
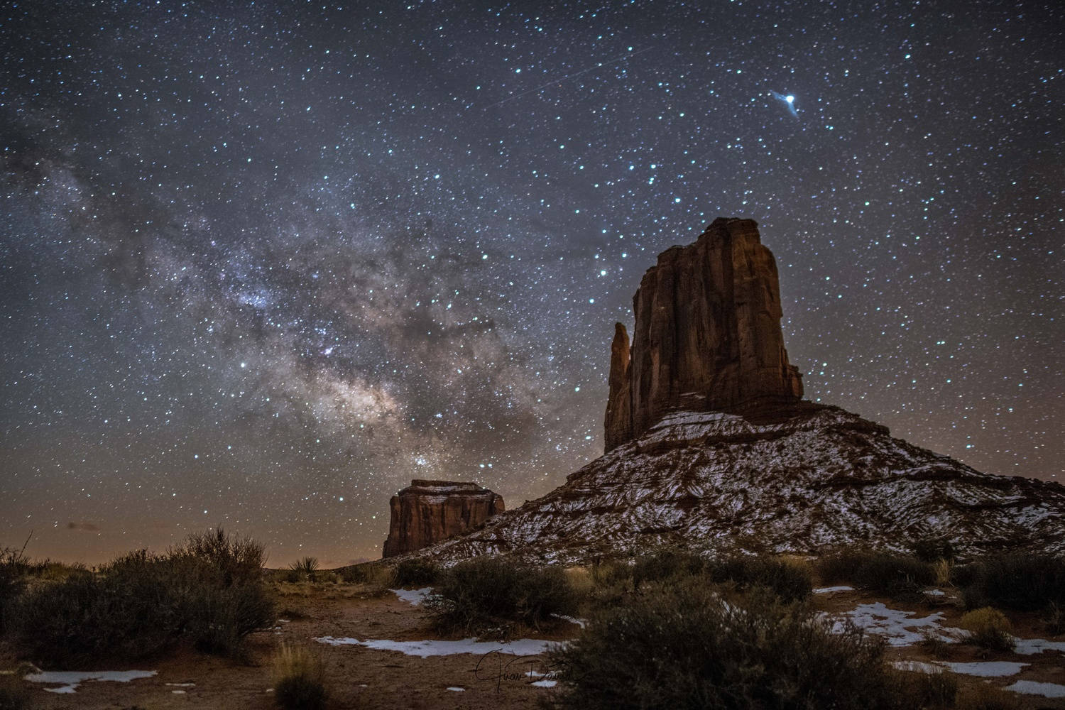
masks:
{"label": "starry night sky with the Milky Way above the buttes", "polygon": [[220,524],[341,564],[411,478],[542,495],[602,451],[643,270],[717,216],[775,253],[810,399],[1060,478],[1063,35],[1059,2],[4,3],[0,546]]}

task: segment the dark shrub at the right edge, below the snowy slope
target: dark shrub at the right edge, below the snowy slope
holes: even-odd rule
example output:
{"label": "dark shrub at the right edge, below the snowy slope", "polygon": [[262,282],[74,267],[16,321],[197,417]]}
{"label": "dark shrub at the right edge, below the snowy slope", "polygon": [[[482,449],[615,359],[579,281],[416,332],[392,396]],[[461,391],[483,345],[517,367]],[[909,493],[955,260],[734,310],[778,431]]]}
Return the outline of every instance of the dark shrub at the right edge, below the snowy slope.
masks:
{"label": "dark shrub at the right edge, below the snowy slope", "polygon": [[1032,552],[986,557],[955,568],[969,609],[995,606],[1015,611],[1041,611],[1065,606],[1065,558]]}

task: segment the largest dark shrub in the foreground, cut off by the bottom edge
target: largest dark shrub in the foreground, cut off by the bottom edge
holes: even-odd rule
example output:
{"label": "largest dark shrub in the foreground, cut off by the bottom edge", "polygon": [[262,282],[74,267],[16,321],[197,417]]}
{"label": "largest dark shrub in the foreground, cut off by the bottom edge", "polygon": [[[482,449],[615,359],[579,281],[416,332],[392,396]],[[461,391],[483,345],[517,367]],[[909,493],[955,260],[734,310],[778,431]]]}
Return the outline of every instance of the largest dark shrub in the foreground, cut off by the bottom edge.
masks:
{"label": "largest dark shrub in the foreground, cut off by the bottom edge", "polygon": [[580,710],[919,707],[884,645],[764,589],[727,601],[690,576],[602,606],[577,639],[548,651],[551,701]]}

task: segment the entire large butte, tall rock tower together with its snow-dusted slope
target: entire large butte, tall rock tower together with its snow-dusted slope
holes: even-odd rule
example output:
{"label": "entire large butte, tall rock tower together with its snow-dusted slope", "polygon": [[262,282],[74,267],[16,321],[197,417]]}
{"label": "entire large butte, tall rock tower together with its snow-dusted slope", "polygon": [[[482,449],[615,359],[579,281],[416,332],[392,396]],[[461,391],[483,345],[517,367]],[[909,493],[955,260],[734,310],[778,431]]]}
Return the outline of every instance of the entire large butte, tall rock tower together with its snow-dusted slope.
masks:
{"label": "entire large butte, tall rock tower together with its snow-dusted slope", "polygon": [[604,456],[417,555],[587,564],[659,545],[818,555],[919,540],[1065,552],[1065,486],[983,474],[802,399],[754,221],[716,219],[665,251],[634,307],[633,342],[615,328]]}

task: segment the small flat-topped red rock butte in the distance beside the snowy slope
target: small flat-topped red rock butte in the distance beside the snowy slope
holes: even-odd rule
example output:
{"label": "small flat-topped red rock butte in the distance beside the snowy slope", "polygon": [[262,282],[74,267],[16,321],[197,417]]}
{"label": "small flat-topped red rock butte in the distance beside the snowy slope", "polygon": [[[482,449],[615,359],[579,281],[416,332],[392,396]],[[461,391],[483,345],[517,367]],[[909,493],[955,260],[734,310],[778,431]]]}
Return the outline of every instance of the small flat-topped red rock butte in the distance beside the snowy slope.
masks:
{"label": "small flat-topped red rock butte in the distance beside the snowy slope", "polygon": [[389,500],[392,521],[381,557],[394,557],[460,532],[504,510],[503,496],[476,483],[414,479]]}

